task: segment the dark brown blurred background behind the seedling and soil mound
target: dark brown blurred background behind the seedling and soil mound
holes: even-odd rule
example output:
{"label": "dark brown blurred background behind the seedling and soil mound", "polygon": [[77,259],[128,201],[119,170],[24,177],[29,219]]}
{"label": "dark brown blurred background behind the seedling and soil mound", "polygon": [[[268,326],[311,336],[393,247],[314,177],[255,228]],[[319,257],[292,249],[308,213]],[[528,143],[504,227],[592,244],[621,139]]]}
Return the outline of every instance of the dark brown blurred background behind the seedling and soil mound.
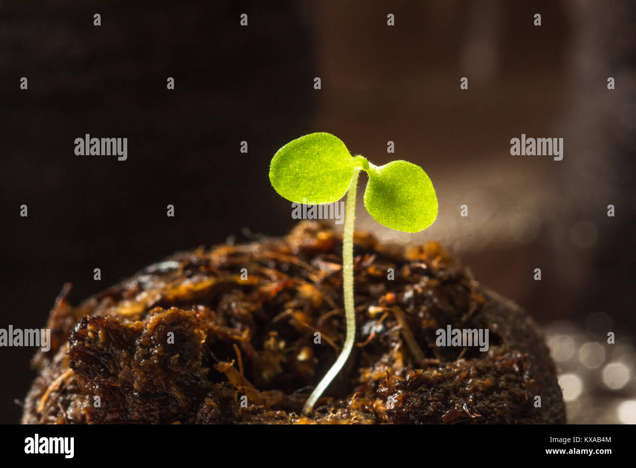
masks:
{"label": "dark brown blurred background behind the seedling and soil mound", "polygon": [[[424,232],[361,198],[359,229],[438,239],[527,309],[570,423],[635,423],[635,22],[627,0],[0,1],[0,327],[42,327],[67,281],[77,304],[177,250],[285,234],[269,161],[326,131],[436,187]],[[76,156],[86,133],[127,137],[128,160]],[[511,156],[522,133],[563,138],[563,160]],[[0,349],[0,422],[19,421],[34,352]]]}

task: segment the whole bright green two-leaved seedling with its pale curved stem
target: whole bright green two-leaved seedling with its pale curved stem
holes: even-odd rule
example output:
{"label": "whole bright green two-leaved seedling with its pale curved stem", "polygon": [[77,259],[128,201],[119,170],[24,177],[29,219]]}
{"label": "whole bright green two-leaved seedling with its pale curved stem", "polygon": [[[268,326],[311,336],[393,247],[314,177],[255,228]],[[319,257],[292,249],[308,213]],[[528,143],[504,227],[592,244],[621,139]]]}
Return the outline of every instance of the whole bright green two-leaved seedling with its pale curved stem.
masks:
{"label": "whole bright green two-leaved seedling with its pale curved stem", "polygon": [[273,188],[291,202],[325,204],[340,200],[347,190],[342,238],[342,278],[347,334],[342,352],[315,387],[303,408],[307,415],[329,383],[340,372],[354,346],[354,219],[360,171],[369,182],[364,190],[364,206],[375,220],[403,232],[418,232],[437,218],[438,200],[431,179],[421,167],[402,160],[374,166],[360,155],[352,156],[335,136],[312,133],[287,143],[276,152],[270,165]]}

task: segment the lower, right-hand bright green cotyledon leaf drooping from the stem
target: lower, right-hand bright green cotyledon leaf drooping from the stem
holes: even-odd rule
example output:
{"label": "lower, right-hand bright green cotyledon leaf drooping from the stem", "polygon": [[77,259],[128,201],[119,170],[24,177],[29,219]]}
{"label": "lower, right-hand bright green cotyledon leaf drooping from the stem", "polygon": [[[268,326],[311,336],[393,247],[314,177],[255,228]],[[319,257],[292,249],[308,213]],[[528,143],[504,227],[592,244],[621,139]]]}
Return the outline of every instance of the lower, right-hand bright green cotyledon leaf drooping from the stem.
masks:
{"label": "lower, right-hand bright green cotyledon leaf drooping from the stem", "polygon": [[393,161],[368,171],[364,206],[380,224],[403,232],[419,232],[437,218],[438,199],[422,167]]}

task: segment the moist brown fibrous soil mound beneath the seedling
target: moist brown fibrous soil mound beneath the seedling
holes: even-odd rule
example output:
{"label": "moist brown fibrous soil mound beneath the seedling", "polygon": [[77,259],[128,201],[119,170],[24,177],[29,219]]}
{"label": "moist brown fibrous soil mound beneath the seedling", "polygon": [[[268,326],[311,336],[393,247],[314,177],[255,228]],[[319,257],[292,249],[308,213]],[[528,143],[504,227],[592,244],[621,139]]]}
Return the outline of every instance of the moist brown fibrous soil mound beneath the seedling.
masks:
{"label": "moist brown fibrous soil mound beneath the seedling", "polygon": [[[355,243],[357,343],[307,417],[345,337],[342,242],[316,222],[177,253],[78,306],[65,285],[22,422],[565,423],[544,338],[516,304],[438,243]],[[447,325],[488,329],[488,351],[437,346]]]}

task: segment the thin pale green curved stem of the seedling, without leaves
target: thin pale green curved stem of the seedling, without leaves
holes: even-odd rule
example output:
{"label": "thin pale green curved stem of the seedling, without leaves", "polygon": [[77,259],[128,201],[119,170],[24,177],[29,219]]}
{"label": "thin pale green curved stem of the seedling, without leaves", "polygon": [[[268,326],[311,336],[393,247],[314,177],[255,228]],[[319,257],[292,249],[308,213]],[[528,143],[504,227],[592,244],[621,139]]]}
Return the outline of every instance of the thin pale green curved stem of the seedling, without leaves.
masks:
{"label": "thin pale green curved stem of the seedling, without leaves", "polygon": [[311,413],[315,402],[321,397],[333,378],[340,372],[347,358],[351,354],[356,340],[356,309],[354,305],[354,220],[356,219],[356,191],[357,179],[361,167],[354,169],[349,192],[347,192],[347,206],[345,208],[345,229],[342,236],[342,283],[345,299],[345,320],[347,322],[347,336],[340,356],[333,363],[331,369],[325,374],[320,383],[309,395],[309,399],[303,406],[303,415]]}

